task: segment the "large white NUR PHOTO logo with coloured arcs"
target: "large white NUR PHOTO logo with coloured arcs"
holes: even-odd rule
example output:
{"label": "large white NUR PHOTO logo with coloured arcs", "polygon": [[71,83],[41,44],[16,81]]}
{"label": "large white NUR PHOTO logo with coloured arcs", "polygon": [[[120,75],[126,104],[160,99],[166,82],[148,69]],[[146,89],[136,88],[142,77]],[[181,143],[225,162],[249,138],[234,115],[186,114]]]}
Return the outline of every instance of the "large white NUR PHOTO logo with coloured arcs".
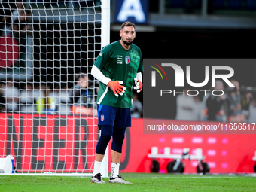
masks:
{"label": "large white NUR PHOTO logo with coloured arcs", "polygon": [[[160,89],[160,96],[163,96],[164,94],[172,94],[175,96],[176,94],[183,94],[187,96],[197,96],[200,94],[200,92],[203,92],[206,96],[206,93],[211,93],[213,96],[222,96],[224,95],[224,90],[221,89],[204,89],[203,87],[206,87],[209,82],[211,83],[211,87],[216,87],[216,84],[218,84],[218,81],[223,81],[227,84],[228,87],[235,87],[231,81],[230,78],[234,75],[234,69],[230,66],[200,66],[200,72],[196,70],[194,74],[192,74],[193,67],[196,66],[184,66],[184,69],[178,64],[175,63],[166,63],[162,62],[159,64],[155,62],[148,62],[151,65],[148,65],[151,69],[151,87],[157,87],[161,84],[161,87],[163,87],[163,84],[166,85],[166,87],[169,87],[168,84],[168,78],[166,73],[171,69],[175,73],[175,87],[185,87],[185,84],[189,87],[193,87],[191,90],[171,90],[171,89]],[[198,66],[197,66],[198,67]],[[211,69],[211,72],[210,72]],[[204,71],[202,71],[204,70]],[[160,75],[162,81],[158,82],[157,75]],[[204,77],[203,81],[200,82],[194,82],[191,80],[191,76],[198,76],[200,78]],[[165,78],[163,77],[165,76]]]}

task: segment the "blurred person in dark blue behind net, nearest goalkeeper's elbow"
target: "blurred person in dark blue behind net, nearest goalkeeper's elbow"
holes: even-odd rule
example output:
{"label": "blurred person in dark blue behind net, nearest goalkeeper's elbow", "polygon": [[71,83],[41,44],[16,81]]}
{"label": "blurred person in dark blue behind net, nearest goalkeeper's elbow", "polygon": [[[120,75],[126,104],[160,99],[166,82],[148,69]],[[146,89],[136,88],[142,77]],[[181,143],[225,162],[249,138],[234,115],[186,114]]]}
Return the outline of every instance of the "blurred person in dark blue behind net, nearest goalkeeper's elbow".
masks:
{"label": "blurred person in dark blue behind net, nearest goalkeeper's elbow", "polygon": [[74,105],[83,106],[86,108],[93,108],[94,96],[93,90],[88,88],[88,75],[78,74],[75,75],[77,84],[72,88],[70,93],[70,101]]}

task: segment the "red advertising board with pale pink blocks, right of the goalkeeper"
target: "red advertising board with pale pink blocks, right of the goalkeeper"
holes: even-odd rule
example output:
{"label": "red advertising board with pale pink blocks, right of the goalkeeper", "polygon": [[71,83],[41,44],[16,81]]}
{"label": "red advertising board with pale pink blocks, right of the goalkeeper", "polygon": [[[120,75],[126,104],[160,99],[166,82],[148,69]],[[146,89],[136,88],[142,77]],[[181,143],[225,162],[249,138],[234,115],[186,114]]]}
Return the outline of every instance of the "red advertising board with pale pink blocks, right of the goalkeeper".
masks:
{"label": "red advertising board with pale pink blocks, right of the goalkeeper", "polygon": [[[191,122],[169,120],[174,124],[190,124]],[[193,122],[202,123],[200,122]],[[212,124],[211,122],[204,122]],[[183,148],[190,148],[192,154],[195,149],[202,148],[204,161],[210,166],[210,173],[249,173],[254,172],[255,161],[252,157],[256,151],[254,134],[144,134],[143,120],[133,119],[133,127],[126,135],[126,143],[130,149],[125,149],[121,165],[123,172],[150,172],[151,147],[158,147],[158,153],[163,153],[165,147],[171,148],[171,154],[182,154]],[[256,127],[254,127],[256,133]],[[251,133],[251,132],[250,132]],[[171,160],[157,159],[160,162],[160,172],[167,172],[166,165]],[[197,160],[184,160],[187,173],[195,173]]]}

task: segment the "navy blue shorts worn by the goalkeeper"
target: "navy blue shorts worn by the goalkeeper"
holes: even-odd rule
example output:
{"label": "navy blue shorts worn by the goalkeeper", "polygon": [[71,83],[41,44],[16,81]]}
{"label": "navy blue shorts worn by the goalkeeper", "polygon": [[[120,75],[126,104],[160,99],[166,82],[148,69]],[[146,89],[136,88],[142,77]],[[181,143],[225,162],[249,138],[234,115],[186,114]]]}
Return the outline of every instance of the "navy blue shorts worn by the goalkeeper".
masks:
{"label": "navy blue shorts worn by the goalkeeper", "polygon": [[110,125],[114,129],[132,126],[130,108],[114,108],[108,105],[97,105],[98,125]]}

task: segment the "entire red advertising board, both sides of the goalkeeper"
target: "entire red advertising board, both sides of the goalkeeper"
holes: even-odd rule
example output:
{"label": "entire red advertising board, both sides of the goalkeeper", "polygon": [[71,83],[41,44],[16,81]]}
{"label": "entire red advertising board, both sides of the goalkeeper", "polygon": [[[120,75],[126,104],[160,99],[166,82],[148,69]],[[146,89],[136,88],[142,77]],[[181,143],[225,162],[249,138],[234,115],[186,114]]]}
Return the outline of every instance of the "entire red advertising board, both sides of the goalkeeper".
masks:
{"label": "entire red advertising board, both sides of the goalkeeper", "polygon": [[[0,114],[0,157],[13,155],[20,172],[92,172],[99,137],[96,123],[95,117]],[[254,134],[145,134],[143,120],[133,119],[126,130],[120,172],[150,172],[152,147],[158,153],[169,147],[172,154],[181,154],[183,148],[194,154],[202,148],[210,173],[254,172],[254,138]],[[160,172],[166,172],[171,160],[158,160]],[[197,160],[184,163],[184,172],[196,172]]]}

